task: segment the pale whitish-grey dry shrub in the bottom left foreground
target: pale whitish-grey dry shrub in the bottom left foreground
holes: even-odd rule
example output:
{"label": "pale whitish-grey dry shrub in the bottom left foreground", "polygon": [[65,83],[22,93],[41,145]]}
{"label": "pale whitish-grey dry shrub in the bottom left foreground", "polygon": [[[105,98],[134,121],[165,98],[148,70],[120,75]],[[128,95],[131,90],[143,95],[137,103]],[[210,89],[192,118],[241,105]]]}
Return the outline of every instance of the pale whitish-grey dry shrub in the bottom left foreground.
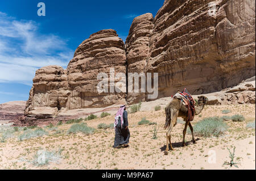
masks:
{"label": "pale whitish-grey dry shrub in the bottom left foreground", "polygon": [[32,163],[36,166],[48,165],[50,162],[59,163],[61,153],[55,151],[38,150]]}

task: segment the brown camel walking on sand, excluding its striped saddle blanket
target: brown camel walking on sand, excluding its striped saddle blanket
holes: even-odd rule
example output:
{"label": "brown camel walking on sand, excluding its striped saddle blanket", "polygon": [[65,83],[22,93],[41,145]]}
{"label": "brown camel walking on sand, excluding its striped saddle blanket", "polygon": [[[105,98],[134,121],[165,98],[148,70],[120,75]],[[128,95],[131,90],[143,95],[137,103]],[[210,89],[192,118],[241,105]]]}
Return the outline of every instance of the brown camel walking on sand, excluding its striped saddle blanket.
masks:
{"label": "brown camel walking on sand, excluding its striped saddle blanket", "polygon": [[[199,115],[199,113],[203,110],[204,106],[208,103],[208,98],[205,96],[198,96],[197,98],[199,98],[199,100],[198,100],[198,106],[195,106],[195,115]],[[168,131],[166,133],[167,141],[166,141],[166,150],[164,151],[164,154],[168,155],[168,150],[169,150],[168,141],[170,142],[171,150],[174,150],[171,144],[171,131],[177,124],[177,117],[182,117],[185,121],[185,128],[183,130],[183,146],[185,146],[185,134],[188,126],[192,133],[193,144],[196,144],[195,136],[193,133],[193,127],[190,121],[187,121],[188,108],[183,106],[183,104],[179,99],[174,98],[166,106],[165,110],[166,110],[166,124],[164,125],[164,129],[168,128]]]}

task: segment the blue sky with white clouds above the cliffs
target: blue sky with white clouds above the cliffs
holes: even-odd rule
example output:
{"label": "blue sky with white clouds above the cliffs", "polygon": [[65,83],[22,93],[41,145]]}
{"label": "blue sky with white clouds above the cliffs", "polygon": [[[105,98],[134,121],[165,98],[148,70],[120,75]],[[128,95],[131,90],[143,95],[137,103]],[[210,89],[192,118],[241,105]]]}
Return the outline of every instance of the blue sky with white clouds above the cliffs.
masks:
{"label": "blue sky with white clouds above the cliffs", "polygon": [[[46,16],[38,16],[39,2]],[[112,28],[124,41],[135,16],[154,16],[164,0],[1,0],[0,104],[27,100],[36,69],[67,68],[79,44]]]}

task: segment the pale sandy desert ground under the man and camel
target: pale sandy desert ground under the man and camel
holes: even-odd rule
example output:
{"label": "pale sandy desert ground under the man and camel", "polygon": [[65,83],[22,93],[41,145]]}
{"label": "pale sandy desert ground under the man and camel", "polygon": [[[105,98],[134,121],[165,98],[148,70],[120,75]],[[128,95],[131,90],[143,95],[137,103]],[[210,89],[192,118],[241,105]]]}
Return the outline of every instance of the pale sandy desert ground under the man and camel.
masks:
{"label": "pale sandy desert ground under the man and camel", "polygon": [[[96,129],[92,135],[82,133],[66,134],[72,124],[57,126],[48,136],[18,141],[18,132],[6,142],[0,142],[0,169],[237,169],[223,166],[230,161],[229,151],[236,146],[235,162],[238,169],[255,169],[255,129],[246,124],[255,120],[255,104],[232,106],[207,106],[200,115],[195,116],[192,125],[204,117],[232,116],[240,113],[243,122],[227,121],[228,131],[221,137],[204,138],[196,136],[192,144],[191,134],[187,133],[187,146],[182,147],[184,124],[179,122],[171,133],[172,146],[175,148],[164,155],[166,130],[164,107],[160,111],[141,111],[129,113],[131,132],[129,148],[114,149],[114,129]],[[86,121],[89,127],[97,128],[100,123],[113,123],[113,115]],[[143,117],[160,125],[158,138],[152,139],[154,125],[138,125]],[[59,130],[60,133],[56,133]],[[36,151],[46,149],[61,152],[59,163],[50,162],[45,166],[31,163]]]}

